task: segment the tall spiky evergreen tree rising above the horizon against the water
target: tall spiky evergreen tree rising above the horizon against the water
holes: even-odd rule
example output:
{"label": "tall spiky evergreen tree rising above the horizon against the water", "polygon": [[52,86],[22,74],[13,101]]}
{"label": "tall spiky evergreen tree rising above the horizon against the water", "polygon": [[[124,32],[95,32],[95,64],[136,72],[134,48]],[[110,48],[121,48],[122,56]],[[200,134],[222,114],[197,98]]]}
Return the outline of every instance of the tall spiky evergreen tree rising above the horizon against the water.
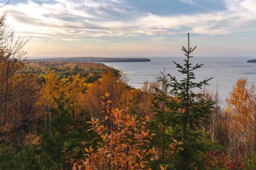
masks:
{"label": "tall spiky evergreen tree rising above the horizon against the water", "polygon": [[[210,79],[196,82],[194,70],[200,68],[203,64],[193,66],[190,59],[193,56],[190,54],[195,50],[195,47],[190,47],[188,33],[188,47],[182,47],[185,52],[186,59],[184,64],[180,65],[176,62],[178,71],[184,76],[181,80],[176,77],[169,76],[170,95],[173,100],[168,103],[170,109],[170,117],[172,118],[172,134],[175,139],[184,142],[184,151],[180,153],[182,169],[193,169],[196,166],[200,168],[200,155],[203,155],[207,150],[207,144],[204,139],[203,127],[208,123],[210,109],[214,102],[207,100],[204,94],[195,92],[196,89],[201,89],[204,85],[208,85]],[[193,91],[194,90],[194,91]],[[203,167],[201,167],[203,168]]]}

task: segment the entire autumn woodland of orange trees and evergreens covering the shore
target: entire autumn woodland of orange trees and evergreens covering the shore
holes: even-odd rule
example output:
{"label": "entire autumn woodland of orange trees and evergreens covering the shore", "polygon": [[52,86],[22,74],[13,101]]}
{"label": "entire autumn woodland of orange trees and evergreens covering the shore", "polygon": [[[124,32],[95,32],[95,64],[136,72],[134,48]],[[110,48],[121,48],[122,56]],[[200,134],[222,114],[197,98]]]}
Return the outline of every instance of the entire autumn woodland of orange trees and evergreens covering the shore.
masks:
{"label": "entire autumn woodland of orange trees and evergreens covering the shore", "polygon": [[254,85],[239,79],[221,103],[211,78],[195,81],[189,39],[180,77],[135,89],[104,64],[27,62],[5,19],[0,169],[256,169]]}

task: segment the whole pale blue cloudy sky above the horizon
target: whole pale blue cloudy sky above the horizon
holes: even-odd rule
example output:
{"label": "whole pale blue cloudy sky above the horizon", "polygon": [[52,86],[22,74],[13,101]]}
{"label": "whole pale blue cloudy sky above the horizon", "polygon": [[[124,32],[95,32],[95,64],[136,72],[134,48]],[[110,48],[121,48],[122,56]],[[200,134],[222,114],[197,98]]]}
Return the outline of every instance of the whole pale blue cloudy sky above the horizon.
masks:
{"label": "whole pale blue cloudy sky above the horizon", "polygon": [[188,32],[195,56],[256,57],[256,0],[10,0],[0,12],[28,57],[177,57]]}

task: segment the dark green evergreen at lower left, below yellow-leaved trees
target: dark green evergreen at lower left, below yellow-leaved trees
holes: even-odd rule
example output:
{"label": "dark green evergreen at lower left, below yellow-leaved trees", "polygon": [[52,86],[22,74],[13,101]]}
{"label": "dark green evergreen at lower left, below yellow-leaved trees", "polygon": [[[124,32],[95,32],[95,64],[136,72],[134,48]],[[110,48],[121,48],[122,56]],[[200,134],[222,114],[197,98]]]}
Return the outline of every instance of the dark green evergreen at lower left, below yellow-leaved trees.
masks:
{"label": "dark green evergreen at lower left, below yellow-leaved trees", "polygon": [[66,162],[62,151],[65,148],[65,142],[72,136],[70,127],[73,125],[73,119],[68,100],[64,98],[63,93],[60,94],[59,99],[54,98],[54,101],[57,108],[51,109],[53,115],[51,125],[45,130],[42,139],[42,155],[48,162],[49,168],[55,166],[56,169],[61,169]]}

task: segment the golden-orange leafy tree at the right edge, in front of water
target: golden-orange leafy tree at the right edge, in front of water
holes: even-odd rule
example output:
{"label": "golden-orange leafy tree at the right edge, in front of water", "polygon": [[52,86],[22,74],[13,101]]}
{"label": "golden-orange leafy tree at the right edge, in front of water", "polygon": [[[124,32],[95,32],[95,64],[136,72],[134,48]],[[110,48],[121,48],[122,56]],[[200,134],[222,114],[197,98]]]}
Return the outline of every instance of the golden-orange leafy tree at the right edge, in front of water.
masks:
{"label": "golden-orange leafy tree at the right edge, in front of water", "polygon": [[[256,94],[254,85],[248,85],[247,79],[239,79],[227,101],[227,114],[230,115],[229,126],[232,127],[233,142],[230,141],[230,152],[246,154],[255,150],[255,116]],[[240,151],[237,149],[239,148]]]}

